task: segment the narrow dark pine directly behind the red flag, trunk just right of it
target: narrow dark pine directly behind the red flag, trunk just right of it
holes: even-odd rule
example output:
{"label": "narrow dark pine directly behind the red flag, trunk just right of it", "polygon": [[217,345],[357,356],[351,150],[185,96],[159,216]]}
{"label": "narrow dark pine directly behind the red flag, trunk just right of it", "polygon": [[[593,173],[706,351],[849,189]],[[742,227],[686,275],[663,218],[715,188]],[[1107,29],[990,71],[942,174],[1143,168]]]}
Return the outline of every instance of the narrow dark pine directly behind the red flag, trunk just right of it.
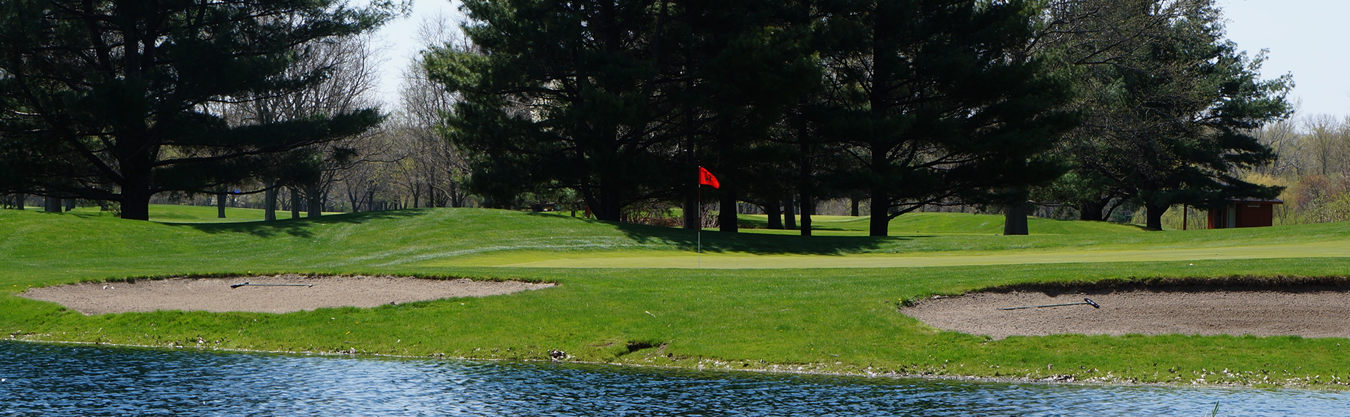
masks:
{"label": "narrow dark pine directly behind the red flag, trunk just right of it", "polygon": [[[722,208],[772,198],[796,173],[790,167],[795,131],[784,116],[821,80],[814,59],[811,8],[806,1],[680,1],[687,27],[691,88],[680,103],[698,115],[702,161],[721,179]],[[778,132],[775,132],[778,131]],[[782,135],[782,132],[787,135]],[[788,140],[782,140],[788,139]],[[788,175],[780,175],[783,169]],[[756,193],[759,190],[759,193]],[[718,225],[736,232],[736,212],[722,209]]]}

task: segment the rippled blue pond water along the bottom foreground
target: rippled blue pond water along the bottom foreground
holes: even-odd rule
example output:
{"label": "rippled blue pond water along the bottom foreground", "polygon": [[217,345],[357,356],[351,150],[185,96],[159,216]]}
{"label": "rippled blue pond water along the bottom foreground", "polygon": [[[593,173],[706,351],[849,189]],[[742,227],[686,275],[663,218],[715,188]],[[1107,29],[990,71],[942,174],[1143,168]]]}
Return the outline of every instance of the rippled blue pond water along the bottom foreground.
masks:
{"label": "rippled blue pond water along the bottom foreground", "polygon": [[0,416],[1350,416],[1350,393],[0,341]]}

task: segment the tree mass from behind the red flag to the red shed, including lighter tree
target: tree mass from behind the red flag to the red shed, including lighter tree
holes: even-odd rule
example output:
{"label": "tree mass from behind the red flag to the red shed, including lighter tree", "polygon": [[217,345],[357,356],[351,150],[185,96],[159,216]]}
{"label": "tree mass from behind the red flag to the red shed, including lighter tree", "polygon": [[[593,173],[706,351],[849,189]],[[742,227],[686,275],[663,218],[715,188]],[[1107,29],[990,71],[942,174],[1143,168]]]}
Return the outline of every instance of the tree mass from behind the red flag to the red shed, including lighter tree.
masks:
{"label": "tree mass from behind the red flag to the red shed, including lighter tree", "polygon": [[458,94],[444,134],[489,205],[575,196],[603,220],[702,205],[736,231],[864,200],[871,235],[932,205],[1029,201],[1161,228],[1173,205],[1274,197],[1241,169],[1289,112],[1288,77],[1224,39],[1211,0],[470,0],[467,45],[427,54]]}

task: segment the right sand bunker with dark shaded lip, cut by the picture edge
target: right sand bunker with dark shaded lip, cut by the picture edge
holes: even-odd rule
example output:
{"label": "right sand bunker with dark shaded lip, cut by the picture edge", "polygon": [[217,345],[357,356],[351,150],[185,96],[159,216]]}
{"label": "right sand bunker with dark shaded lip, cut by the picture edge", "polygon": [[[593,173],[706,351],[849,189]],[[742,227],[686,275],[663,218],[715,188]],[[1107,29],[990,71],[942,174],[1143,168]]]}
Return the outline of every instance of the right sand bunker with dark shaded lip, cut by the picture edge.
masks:
{"label": "right sand bunker with dark shaded lip, cut by the picture edge", "polygon": [[[1083,298],[1092,298],[1102,308],[1000,310]],[[1065,333],[1350,337],[1350,290],[1326,286],[975,293],[922,300],[900,312],[936,328],[996,339]]]}

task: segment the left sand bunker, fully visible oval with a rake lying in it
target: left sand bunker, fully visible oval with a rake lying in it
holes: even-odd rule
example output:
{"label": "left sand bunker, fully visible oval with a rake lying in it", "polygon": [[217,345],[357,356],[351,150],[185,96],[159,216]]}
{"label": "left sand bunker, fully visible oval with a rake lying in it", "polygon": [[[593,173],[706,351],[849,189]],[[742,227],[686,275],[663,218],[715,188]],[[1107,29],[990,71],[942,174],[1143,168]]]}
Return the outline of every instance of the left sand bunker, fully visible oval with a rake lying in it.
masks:
{"label": "left sand bunker, fully visible oval with a rake lying in it", "polygon": [[[230,287],[246,281],[306,286]],[[335,306],[371,308],[390,302],[498,296],[551,286],[554,285],[520,281],[277,275],[59,285],[31,289],[20,296],[59,302],[85,314],[154,310],[289,313]]]}

